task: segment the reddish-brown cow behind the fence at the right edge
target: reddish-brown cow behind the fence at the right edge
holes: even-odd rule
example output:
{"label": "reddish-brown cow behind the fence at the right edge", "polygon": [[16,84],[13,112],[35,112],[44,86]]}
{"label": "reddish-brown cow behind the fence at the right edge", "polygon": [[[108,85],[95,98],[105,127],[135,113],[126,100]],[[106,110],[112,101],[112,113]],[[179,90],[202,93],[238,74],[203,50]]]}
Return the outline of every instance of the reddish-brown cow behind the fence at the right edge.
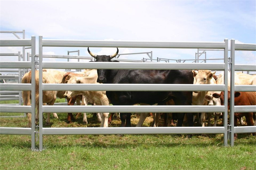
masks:
{"label": "reddish-brown cow behind the fence at the right edge", "polygon": [[[224,105],[224,92],[214,93],[212,95],[215,98],[220,98],[221,105]],[[235,106],[251,106],[256,105],[256,92],[235,92],[234,93]],[[228,91],[228,109],[230,109],[230,91]],[[246,112],[246,113],[235,113],[234,114],[234,126],[237,126],[237,119],[240,119],[241,117],[245,116],[247,126],[256,126],[256,120],[255,117],[256,113],[254,112]],[[254,124],[253,124],[253,117],[254,117]],[[253,133],[255,135],[255,133]],[[234,135],[234,138],[237,138],[237,134]]]}

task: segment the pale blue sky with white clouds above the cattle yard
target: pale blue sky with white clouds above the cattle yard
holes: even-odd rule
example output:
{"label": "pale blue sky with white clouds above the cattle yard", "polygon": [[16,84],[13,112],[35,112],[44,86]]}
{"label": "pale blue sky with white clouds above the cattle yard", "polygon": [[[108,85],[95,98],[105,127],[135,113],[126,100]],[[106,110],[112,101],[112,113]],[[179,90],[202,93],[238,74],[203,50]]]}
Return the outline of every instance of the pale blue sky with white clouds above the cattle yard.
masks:
{"label": "pale blue sky with white clouds above the cattle yard", "polygon": [[[26,39],[109,40],[109,41],[203,41],[256,44],[255,0],[176,0],[176,1],[4,1],[0,0],[0,30],[25,30]],[[18,34],[22,37],[21,34]],[[0,39],[17,39],[11,33],[0,33]],[[43,54],[67,55],[87,48],[43,48]],[[95,54],[111,55],[116,48],[90,48]],[[1,47],[1,53],[17,53],[19,47]],[[153,59],[195,59],[197,49],[119,48],[119,54],[153,51]],[[30,52],[29,49],[26,53]],[[70,55],[76,55],[72,53]],[[206,51],[207,58],[223,58],[222,51]],[[202,55],[204,58],[205,55]],[[141,55],[120,58],[142,59]],[[17,59],[1,57],[1,61]],[[44,61],[67,61],[48,58]],[[71,59],[70,61],[77,61]],[[190,61],[186,61],[190,62]],[[207,63],[220,63],[211,60]],[[237,64],[256,64],[252,51],[237,51]]]}

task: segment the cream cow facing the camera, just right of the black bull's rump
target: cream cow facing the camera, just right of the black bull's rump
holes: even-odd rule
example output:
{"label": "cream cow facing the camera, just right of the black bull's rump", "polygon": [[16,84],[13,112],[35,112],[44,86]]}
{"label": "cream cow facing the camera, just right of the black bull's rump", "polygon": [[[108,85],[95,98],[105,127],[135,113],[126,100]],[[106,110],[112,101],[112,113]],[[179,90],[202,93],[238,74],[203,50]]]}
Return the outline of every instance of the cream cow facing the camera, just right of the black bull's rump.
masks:
{"label": "cream cow facing the camera, just right of the black bull's rump", "polygon": [[[192,70],[194,75],[194,84],[210,84],[211,79],[213,77],[213,74],[216,73],[216,71],[212,72],[211,70]],[[206,105],[205,103],[205,95],[206,91],[201,92],[193,92],[192,96],[192,105]],[[208,104],[207,104],[208,105]],[[205,124],[205,113],[201,113],[200,120],[202,123],[202,127],[204,127]]]}

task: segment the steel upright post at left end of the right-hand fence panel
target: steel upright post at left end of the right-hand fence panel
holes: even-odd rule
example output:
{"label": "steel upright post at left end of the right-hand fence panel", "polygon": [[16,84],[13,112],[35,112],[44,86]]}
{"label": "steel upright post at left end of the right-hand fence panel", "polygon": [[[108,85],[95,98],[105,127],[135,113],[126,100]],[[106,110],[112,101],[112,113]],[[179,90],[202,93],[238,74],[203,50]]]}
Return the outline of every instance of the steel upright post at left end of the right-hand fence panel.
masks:
{"label": "steel upright post at left end of the right-hand fence panel", "polygon": [[[229,111],[229,124],[231,125],[230,140],[231,146],[234,146],[234,85],[235,85],[235,40],[230,40],[230,111]],[[236,120],[237,121],[237,120]]]}

